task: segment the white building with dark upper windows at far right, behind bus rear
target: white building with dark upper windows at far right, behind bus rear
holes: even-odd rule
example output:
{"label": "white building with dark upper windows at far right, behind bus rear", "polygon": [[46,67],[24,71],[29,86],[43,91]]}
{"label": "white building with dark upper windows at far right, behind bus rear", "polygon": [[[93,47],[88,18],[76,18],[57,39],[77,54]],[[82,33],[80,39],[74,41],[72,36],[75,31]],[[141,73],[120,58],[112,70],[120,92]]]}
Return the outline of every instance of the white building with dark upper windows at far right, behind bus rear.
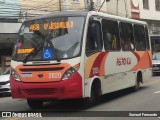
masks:
{"label": "white building with dark upper windows at far right, behind bus rear", "polygon": [[149,25],[152,50],[160,51],[160,0],[140,0],[140,19]]}

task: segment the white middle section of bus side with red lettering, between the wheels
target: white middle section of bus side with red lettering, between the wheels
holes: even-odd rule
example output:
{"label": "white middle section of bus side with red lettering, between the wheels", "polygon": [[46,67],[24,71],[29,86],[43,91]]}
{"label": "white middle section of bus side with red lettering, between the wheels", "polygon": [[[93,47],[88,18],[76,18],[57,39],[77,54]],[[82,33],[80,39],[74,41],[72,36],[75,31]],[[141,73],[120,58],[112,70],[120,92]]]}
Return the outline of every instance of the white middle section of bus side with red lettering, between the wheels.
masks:
{"label": "white middle section of bus side with red lettering, between the wheels", "polygon": [[109,52],[105,62],[103,94],[135,85],[136,75],[130,71],[137,64],[132,52]]}

